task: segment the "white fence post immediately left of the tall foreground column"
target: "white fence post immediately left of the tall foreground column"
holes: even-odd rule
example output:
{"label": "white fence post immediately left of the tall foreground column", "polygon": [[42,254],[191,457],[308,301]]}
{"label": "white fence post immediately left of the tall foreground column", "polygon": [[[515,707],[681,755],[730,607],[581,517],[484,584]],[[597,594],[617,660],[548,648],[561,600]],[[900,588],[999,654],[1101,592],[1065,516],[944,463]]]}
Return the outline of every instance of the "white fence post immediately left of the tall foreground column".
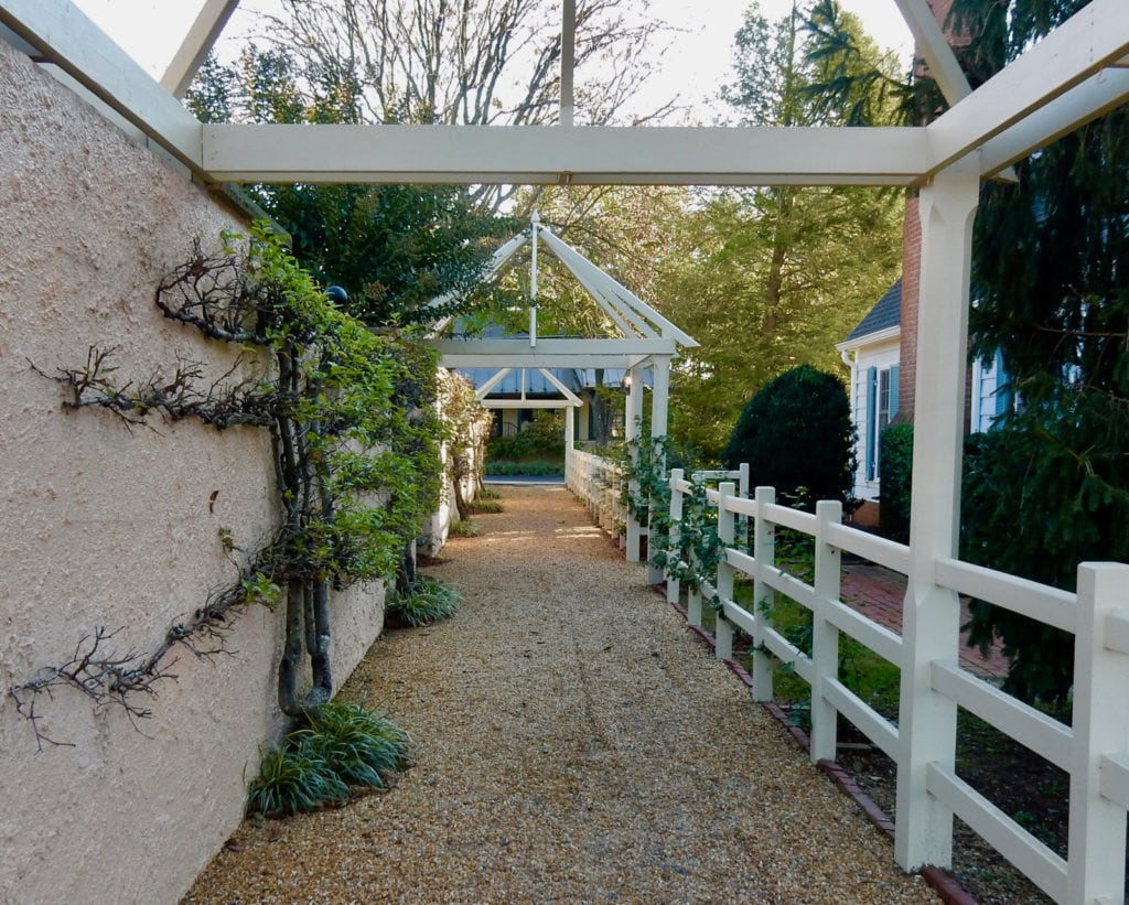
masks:
{"label": "white fence post immediately left of the tall foreground column", "polygon": [[843,519],[843,506],[838,500],[820,500],[815,504],[815,608],[812,610],[812,763],[835,759],[837,722],[839,714],[823,694],[828,677],[839,677],[839,630],[828,622],[828,601],[839,599],[838,547],[828,543],[828,529]]}

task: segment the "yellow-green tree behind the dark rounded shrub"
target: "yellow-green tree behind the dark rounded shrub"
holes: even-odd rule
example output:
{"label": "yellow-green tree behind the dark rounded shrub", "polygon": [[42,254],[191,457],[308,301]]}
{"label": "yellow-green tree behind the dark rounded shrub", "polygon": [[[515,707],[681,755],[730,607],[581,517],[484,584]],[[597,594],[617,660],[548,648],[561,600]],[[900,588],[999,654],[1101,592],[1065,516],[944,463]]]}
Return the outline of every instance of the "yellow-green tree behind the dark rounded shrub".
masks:
{"label": "yellow-green tree behind the dark rounded shrub", "polygon": [[[826,52],[820,28],[851,35],[861,55]],[[724,97],[744,123],[840,124],[858,93],[829,104],[812,87],[833,67],[891,65],[834,3],[776,24],[754,5],[736,36],[737,78]],[[870,108],[883,109],[881,98]],[[701,343],[676,366],[672,436],[716,458],[758,388],[797,364],[839,368],[835,342],[896,278],[900,219],[899,194],[851,187],[723,191],[689,207],[656,289],[664,314]]]}

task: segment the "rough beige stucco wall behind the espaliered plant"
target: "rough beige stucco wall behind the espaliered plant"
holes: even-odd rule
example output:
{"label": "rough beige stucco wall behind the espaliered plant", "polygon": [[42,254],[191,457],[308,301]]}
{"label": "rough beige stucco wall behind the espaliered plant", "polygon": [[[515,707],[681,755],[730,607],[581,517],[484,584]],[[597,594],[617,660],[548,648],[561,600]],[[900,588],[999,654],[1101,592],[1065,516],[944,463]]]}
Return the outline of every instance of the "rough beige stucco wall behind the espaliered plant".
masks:
{"label": "rough beige stucco wall behind the espaliered plant", "polygon": [[[108,413],[65,412],[35,374],[120,346],[120,375],[182,355],[226,369],[231,350],[164,320],[157,281],[193,236],[238,219],[187,176],[134,147],[0,42],[0,692],[59,664],[84,634],[121,630],[148,651],[234,571],[217,530],[248,546],[273,519],[269,438],[195,423],[128,431]],[[209,500],[216,494],[213,510]],[[382,597],[335,601],[336,678],[379,632]],[[73,689],[43,702],[43,727],[73,747],[36,752],[0,703],[0,902],[176,902],[237,825],[261,743],[282,726],[281,620],[250,610],[231,657],[178,652],[175,682],[137,731]]]}

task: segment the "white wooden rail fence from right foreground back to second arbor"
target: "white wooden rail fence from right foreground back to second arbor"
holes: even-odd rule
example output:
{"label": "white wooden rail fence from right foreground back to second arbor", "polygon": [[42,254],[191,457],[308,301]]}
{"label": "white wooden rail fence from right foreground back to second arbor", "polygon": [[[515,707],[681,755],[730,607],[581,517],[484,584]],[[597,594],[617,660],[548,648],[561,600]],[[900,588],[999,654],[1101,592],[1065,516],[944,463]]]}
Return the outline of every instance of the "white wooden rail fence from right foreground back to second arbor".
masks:
{"label": "white wooden rail fence from right foreground back to second arbor", "polygon": [[[730,477],[732,475],[725,475]],[[677,537],[683,503],[692,492],[682,469],[671,473],[672,537]],[[1067,594],[1003,572],[952,559],[933,563],[929,581],[948,592],[987,600],[1022,613],[1075,636],[1073,727],[1065,726],[960,666],[959,642],[944,657],[914,657],[914,647],[868,620],[840,599],[840,556],[849,552],[895,572],[910,572],[910,548],[842,524],[839,502],[820,502],[815,515],[778,506],[771,487],[758,487],[753,499],[737,492],[732,481],[707,491],[717,518],[724,552],[716,574],[699,575],[702,594],[719,599],[717,656],[733,656],[734,629],[752,639],[753,696],[772,698],[772,674],[789,664],[812,688],[811,756],[833,759],[837,715],[842,713],[898,765],[899,808],[895,847],[899,860],[908,850],[904,837],[917,834],[918,850],[952,850],[952,816],[979,833],[1008,861],[1056,902],[1123,902],[1126,810],[1129,808],[1129,565],[1084,563],[1078,568],[1078,592]],[[749,539],[736,543],[739,522]],[[812,583],[777,565],[774,531],[791,528],[814,538]],[[746,552],[747,551],[747,552]],[[672,551],[672,555],[676,551]],[[812,653],[790,643],[771,622],[770,607],[752,609],[734,601],[734,579],[752,580],[752,599],[771,600],[782,594],[811,610]],[[912,585],[911,585],[912,588]],[[677,599],[676,583],[667,594]],[[715,598],[716,595],[716,598]],[[691,595],[689,616],[700,624],[700,598]],[[912,592],[911,592],[912,597]],[[918,594],[916,599],[921,599]],[[697,614],[694,613],[697,606]],[[839,677],[839,638],[846,633],[902,674],[900,715],[894,723],[851,692]],[[769,654],[772,656],[769,656]],[[908,677],[925,676],[914,683]],[[916,688],[925,688],[924,693]],[[913,700],[914,696],[928,701]],[[943,705],[937,706],[937,703]],[[1001,732],[1038,753],[1070,775],[1069,859],[1062,859],[1010,819],[955,772],[956,706],[977,714]],[[917,711],[916,719],[910,714]],[[926,718],[922,717],[926,714]],[[927,757],[911,732],[925,733]],[[927,746],[929,747],[929,746]],[[913,783],[913,777],[919,782]],[[1022,777],[1016,779],[1022,782]],[[913,785],[917,785],[917,789]],[[946,819],[934,819],[940,810]],[[928,834],[945,834],[928,838]],[[922,834],[926,838],[922,841]],[[918,864],[902,864],[918,867]],[[938,867],[947,867],[938,863]]]}

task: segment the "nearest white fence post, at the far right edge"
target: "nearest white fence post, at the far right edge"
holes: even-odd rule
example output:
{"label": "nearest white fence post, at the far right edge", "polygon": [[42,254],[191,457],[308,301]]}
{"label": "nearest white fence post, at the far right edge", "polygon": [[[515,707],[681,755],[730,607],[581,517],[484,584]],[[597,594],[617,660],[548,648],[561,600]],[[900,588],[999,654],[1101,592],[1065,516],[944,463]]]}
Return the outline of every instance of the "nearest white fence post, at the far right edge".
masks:
{"label": "nearest white fence post, at the far right edge", "polygon": [[1124,896],[1126,810],[1097,791],[1102,756],[1122,754],[1129,745],[1126,654],[1105,647],[1106,618],[1119,608],[1129,608],[1129,565],[1079,565],[1067,902]]}

